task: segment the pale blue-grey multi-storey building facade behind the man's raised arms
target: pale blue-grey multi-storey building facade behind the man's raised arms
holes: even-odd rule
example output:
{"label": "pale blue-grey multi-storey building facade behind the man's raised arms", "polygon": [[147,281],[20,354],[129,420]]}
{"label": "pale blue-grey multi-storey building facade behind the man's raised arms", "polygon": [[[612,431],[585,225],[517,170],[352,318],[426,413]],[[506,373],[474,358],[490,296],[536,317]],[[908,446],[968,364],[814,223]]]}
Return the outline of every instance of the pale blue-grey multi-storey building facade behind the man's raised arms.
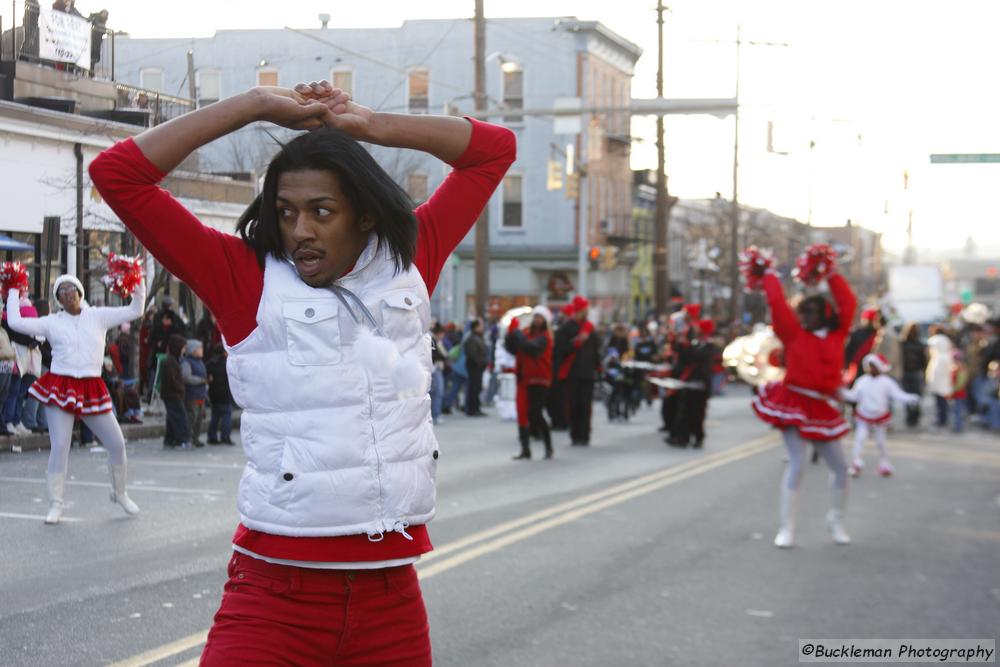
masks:
{"label": "pale blue-grey multi-storey building facade behind the man's raised arms", "polygon": [[[380,111],[462,115],[474,106],[473,26],[464,18],[406,21],[392,29],[118,38],[115,47],[120,78],[168,92],[186,91],[193,80],[199,104],[258,84],[292,86],[328,78]],[[600,311],[624,311],[631,298],[630,267],[589,272],[588,284],[579,285],[577,261],[581,248],[613,243],[631,229],[630,117],[607,109],[627,107],[641,50],[597,22],[539,18],[489,20],[486,52],[488,107],[498,110],[489,120],[507,125],[518,139],[517,161],[487,207],[496,308],[558,305],[582,292]],[[563,132],[552,116],[518,113],[552,109],[559,98],[580,98],[584,107],[605,111],[583,113],[579,132]],[[275,152],[272,136],[287,135],[273,126],[245,128],[203,149],[201,164],[219,172],[260,172]],[[373,154],[417,202],[448,171],[415,152],[374,147]],[[565,165],[567,154],[576,176],[563,173],[562,187],[550,189],[549,164]],[[472,237],[452,256],[434,294],[440,319],[471,314]]]}

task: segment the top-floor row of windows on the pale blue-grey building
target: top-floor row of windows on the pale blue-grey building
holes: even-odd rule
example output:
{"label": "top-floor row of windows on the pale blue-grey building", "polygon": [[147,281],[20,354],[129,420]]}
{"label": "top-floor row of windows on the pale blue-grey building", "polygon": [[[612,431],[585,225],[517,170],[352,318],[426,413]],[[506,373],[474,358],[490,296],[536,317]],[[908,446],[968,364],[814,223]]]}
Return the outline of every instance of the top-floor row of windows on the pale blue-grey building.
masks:
{"label": "top-floor row of windows on the pale blue-grey building", "polygon": [[[350,67],[335,67],[330,71],[330,83],[334,88],[340,88],[353,95],[355,90],[354,70]],[[258,86],[279,86],[281,79],[274,67],[261,67],[257,70]],[[139,87],[168,93],[165,90],[163,69],[160,67],[143,67],[139,70]],[[203,68],[195,73],[195,89],[198,106],[204,106],[222,99],[222,72],[217,69]],[[503,73],[503,104],[507,109],[524,108],[524,72],[520,69]],[[410,113],[428,113],[430,111],[430,70],[416,68],[407,75],[407,110]],[[520,116],[507,118],[508,122],[520,122]]]}

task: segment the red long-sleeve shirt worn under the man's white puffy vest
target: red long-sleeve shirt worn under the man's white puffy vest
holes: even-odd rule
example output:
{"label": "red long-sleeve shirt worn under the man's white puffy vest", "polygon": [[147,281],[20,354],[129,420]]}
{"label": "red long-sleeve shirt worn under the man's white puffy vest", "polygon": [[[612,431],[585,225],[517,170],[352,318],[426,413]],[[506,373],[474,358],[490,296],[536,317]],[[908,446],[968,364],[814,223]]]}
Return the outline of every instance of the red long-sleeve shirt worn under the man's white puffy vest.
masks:
{"label": "red long-sleeve shirt worn under the man's white puffy vest", "polygon": [[[453,171],[414,211],[414,266],[434,291],[448,256],[469,232],[516,157],[510,130],[476,120],[469,145]],[[264,271],[239,237],[201,223],[158,186],[160,172],[131,139],[101,153],[90,165],[94,185],[136,238],[170,273],[183,280],[215,315],[229,345],[257,327]],[[234,544],[270,558],[327,563],[385,561],[431,550],[425,526],[408,529],[413,540],[388,533],[379,542],[367,535],[285,537],[238,526]]]}

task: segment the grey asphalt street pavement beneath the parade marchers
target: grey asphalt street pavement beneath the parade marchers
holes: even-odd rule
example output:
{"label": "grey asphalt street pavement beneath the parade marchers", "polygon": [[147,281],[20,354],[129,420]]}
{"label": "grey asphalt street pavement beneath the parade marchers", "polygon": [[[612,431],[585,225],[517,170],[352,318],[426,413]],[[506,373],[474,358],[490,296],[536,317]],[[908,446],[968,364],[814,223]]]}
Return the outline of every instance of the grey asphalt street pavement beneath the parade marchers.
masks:
{"label": "grey asphalt street pavement beneath the parade marchers", "polygon": [[[850,546],[810,466],[798,546],[778,550],[782,448],[744,388],[713,399],[703,450],[658,411],[590,447],[513,461],[516,428],[447,417],[436,550],[418,565],[439,666],[794,665],[799,638],[996,638],[1000,438],[890,437],[895,476],[852,480]],[[847,444],[847,443],[845,443]],[[128,445],[126,517],[103,452],[73,450],[45,526],[47,452],[0,455],[0,665],[194,665],[238,517],[239,447]]]}

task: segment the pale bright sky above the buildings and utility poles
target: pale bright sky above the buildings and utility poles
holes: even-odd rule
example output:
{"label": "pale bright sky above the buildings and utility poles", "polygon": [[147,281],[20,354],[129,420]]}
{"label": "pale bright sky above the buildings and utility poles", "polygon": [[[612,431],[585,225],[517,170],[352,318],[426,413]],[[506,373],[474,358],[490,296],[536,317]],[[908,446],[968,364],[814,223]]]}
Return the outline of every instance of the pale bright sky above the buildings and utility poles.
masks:
{"label": "pale bright sky above the buildings and utility poles", "polygon": [[[15,4],[20,18],[23,2]],[[1000,164],[929,162],[931,153],[1000,153],[1000,2],[665,4],[666,97],[732,97],[740,26],[741,201],[821,226],[851,219],[882,232],[884,247],[895,254],[903,250],[912,211],[922,256],[947,254],[972,237],[980,256],[1000,257],[993,196],[1000,190]],[[77,6],[84,14],[108,9],[109,25],[134,37],[177,37],[318,27],[321,12],[336,28],[398,26],[471,16],[474,2],[79,0]],[[655,96],[655,0],[486,0],[485,6],[487,19],[572,15],[601,21],[643,48],[632,94]],[[0,2],[0,14],[9,26],[9,2]],[[634,168],[655,167],[654,126],[651,118],[633,122]],[[732,117],[668,117],[672,194],[732,196],[733,127]]]}

